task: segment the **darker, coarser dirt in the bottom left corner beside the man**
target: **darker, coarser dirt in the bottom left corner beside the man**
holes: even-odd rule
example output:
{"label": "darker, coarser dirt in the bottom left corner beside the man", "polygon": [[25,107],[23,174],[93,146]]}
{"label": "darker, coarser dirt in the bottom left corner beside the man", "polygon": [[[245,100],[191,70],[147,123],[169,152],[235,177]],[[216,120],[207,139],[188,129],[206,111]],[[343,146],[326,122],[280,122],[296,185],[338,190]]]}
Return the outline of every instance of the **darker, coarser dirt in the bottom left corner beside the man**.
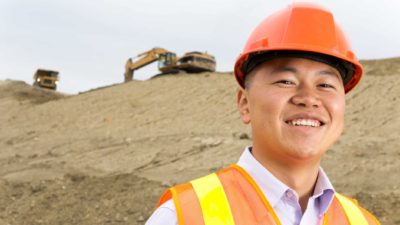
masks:
{"label": "darker, coarser dirt in the bottom left corner beside the man", "polygon": [[56,180],[3,182],[0,218],[21,225],[140,224],[153,209],[148,202],[156,202],[165,188],[132,174],[66,174]]}

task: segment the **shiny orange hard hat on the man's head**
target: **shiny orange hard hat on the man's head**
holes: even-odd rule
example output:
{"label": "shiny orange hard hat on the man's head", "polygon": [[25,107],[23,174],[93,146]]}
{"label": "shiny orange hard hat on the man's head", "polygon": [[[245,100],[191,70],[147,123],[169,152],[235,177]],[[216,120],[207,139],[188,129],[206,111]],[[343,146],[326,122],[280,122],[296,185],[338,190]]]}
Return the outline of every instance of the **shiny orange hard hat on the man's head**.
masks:
{"label": "shiny orange hard hat on the man's head", "polygon": [[313,3],[292,3],[262,21],[236,60],[236,80],[244,88],[244,76],[257,63],[285,56],[334,66],[342,75],[346,93],[362,76],[362,66],[332,13]]}

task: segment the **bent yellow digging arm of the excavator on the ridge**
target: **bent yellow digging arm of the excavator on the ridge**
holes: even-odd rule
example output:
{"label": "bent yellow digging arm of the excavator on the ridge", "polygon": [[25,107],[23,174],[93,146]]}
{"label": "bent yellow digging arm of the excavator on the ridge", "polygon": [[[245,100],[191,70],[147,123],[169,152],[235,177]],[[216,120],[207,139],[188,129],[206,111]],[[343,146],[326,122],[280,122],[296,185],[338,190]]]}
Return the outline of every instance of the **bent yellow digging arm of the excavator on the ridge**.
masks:
{"label": "bent yellow digging arm of the excavator on the ridge", "polygon": [[131,81],[133,79],[133,73],[135,70],[157,61],[160,58],[160,55],[169,52],[170,51],[163,48],[153,48],[149,51],[140,53],[137,56],[138,58],[134,61],[132,60],[132,58],[129,58],[125,64],[125,74],[124,74],[125,82]]}

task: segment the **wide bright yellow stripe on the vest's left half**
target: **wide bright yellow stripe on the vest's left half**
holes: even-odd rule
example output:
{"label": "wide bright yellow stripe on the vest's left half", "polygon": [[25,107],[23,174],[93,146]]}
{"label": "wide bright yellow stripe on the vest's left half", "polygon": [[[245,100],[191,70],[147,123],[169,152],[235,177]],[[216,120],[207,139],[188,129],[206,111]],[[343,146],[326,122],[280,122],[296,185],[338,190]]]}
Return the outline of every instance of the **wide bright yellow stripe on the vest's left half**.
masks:
{"label": "wide bright yellow stripe on the vest's left half", "polygon": [[217,174],[190,182],[199,198],[204,225],[235,225],[228,199]]}

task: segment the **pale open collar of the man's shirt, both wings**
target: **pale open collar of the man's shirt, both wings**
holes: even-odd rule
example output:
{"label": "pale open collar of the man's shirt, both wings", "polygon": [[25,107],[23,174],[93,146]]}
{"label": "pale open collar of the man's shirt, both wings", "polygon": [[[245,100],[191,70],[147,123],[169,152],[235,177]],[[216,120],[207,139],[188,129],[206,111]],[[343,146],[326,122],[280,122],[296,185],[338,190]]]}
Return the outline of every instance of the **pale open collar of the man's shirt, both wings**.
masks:
{"label": "pale open collar of the man's shirt, both wings", "polygon": [[[284,194],[291,190],[286,184],[276,178],[251,153],[251,147],[246,147],[237,163],[253,178],[272,207],[281,201]],[[319,168],[317,182],[312,198],[320,203],[320,215],[323,215],[333,200],[334,189],[328,176]]]}

